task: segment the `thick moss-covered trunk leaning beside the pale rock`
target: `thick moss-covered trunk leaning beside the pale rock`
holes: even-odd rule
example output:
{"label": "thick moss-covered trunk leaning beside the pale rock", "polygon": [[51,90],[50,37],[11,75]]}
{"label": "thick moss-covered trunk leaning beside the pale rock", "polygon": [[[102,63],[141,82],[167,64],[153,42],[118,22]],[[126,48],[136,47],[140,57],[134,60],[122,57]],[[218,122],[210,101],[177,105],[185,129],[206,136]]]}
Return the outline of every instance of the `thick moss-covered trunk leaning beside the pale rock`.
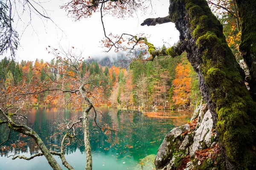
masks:
{"label": "thick moss-covered trunk leaning beside the pale rock", "polygon": [[[221,23],[206,0],[170,0],[169,18],[180,32],[182,43],[162,51],[171,51],[172,57],[179,54],[175,52],[179,51],[177,48],[187,52],[217,127],[224,148],[222,155],[227,156],[223,168],[255,169],[256,105],[244,85],[244,72],[227,45]],[[149,20],[142,25],[151,25]],[[150,43],[148,46],[154,54],[156,49]]]}

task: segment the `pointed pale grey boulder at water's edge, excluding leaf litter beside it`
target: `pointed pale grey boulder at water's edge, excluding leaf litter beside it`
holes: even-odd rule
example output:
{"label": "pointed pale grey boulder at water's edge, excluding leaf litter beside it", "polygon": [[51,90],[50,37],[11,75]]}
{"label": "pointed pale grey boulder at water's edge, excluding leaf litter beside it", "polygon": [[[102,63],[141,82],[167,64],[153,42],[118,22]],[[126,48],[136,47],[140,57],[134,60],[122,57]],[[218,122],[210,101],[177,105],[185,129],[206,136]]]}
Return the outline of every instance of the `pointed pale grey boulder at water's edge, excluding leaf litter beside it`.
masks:
{"label": "pointed pale grey boulder at water's edge, excluding leaf litter beside it", "polygon": [[[192,130],[190,130],[189,125]],[[212,114],[207,105],[201,101],[195,108],[191,123],[176,127],[165,136],[155,159],[156,169],[177,169],[186,156],[190,156],[186,159],[194,159],[196,150],[214,147],[216,142],[213,144],[212,142],[215,139],[216,133],[214,134]],[[195,168],[191,161],[182,166],[186,166],[185,170]]]}

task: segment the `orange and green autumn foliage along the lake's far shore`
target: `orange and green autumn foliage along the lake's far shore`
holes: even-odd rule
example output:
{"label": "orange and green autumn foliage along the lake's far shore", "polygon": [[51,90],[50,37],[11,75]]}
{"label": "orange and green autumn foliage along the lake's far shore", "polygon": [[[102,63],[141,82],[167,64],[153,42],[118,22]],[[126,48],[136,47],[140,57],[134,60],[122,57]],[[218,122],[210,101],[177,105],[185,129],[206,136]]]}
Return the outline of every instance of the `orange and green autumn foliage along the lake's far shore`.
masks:
{"label": "orange and green autumn foliage along the lake's far shore", "polygon": [[[57,49],[53,51],[60,56]],[[63,91],[78,89],[79,79],[90,79],[93,85],[87,85],[88,95],[95,106],[168,109],[175,105],[176,108],[187,108],[192,79],[189,76],[191,66],[184,59],[186,61],[183,58],[178,61],[177,68],[172,69],[168,68],[167,61],[157,60],[152,63],[135,61],[125,69],[115,65],[101,66],[97,61],[81,57],[74,71],[71,61],[65,57],[57,57],[51,62],[37,59],[20,63],[6,58],[0,62],[3,68],[1,81],[5,84],[2,89],[6,94],[19,94],[17,91],[28,94],[24,103],[27,106],[68,106],[80,110],[84,104],[80,96]],[[156,67],[151,69],[152,65]]]}

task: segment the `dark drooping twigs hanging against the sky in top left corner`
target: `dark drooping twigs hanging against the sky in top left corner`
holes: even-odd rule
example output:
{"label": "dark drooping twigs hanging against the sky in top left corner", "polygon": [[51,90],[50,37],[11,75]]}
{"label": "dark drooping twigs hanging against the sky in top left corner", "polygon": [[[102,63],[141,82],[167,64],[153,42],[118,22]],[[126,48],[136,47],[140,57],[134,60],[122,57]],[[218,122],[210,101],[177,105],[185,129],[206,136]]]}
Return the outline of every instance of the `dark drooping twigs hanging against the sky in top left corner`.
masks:
{"label": "dark drooping twigs hanging against the sky in top left corner", "polygon": [[[44,9],[43,3],[45,2],[41,2],[40,0],[0,1],[0,55],[9,52],[13,59],[15,59],[15,53],[20,45],[19,40],[23,32],[29,26],[34,30],[32,26],[33,16],[37,16],[43,24],[44,20],[52,21],[47,10]],[[25,18],[29,20],[24,22],[23,20],[26,20]],[[55,24],[53,21],[52,23]],[[24,29],[18,33],[16,28],[20,26],[19,24],[23,24]],[[55,26],[60,29],[56,24]]]}

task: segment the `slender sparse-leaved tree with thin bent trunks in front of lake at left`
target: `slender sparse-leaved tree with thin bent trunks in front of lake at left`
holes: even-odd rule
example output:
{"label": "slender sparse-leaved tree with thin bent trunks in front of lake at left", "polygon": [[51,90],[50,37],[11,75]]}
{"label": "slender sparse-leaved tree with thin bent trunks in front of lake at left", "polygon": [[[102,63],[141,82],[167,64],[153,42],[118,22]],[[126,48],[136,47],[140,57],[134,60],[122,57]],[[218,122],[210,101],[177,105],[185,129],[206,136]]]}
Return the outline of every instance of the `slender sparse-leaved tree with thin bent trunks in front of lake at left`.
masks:
{"label": "slender sparse-leaved tree with thin bent trunks in front of lake at left", "polygon": [[[92,152],[89,138],[90,127],[88,125],[90,110],[93,109],[93,112],[95,113],[94,122],[96,123],[97,127],[106,130],[105,134],[112,133],[113,131],[113,129],[111,129],[109,126],[100,126],[96,122],[96,116],[99,114],[99,112],[95,110],[92,101],[94,101],[94,103],[100,102],[101,98],[99,96],[102,93],[102,89],[97,87],[94,82],[101,80],[89,79],[89,77],[86,75],[81,76],[81,53],[76,55],[72,50],[64,51],[64,49],[61,47],[60,49],[61,50],[51,48],[51,53],[62,64],[57,66],[46,65],[46,68],[44,69],[48,73],[47,76],[49,79],[47,82],[40,82],[38,77],[35,77],[36,80],[34,81],[38,81],[40,83],[38,85],[31,85],[30,87],[27,87],[26,84],[23,83],[20,83],[17,85],[17,87],[12,87],[11,84],[6,84],[6,79],[2,82],[2,92],[0,94],[0,125],[6,126],[10,132],[12,130],[31,137],[35,140],[36,144],[42,152],[35,154],[30,158],[14,155],[13,159],[20,158],[30,160],[36,156],[45,156],[48,163],[54,170],[61,170],[61,167],[53,157],[53,155],[58,155],[62,160],[62,164],[64,164],[64,166],[69,170],[72,170],[74,168],[66,161],[64,156],[65,147],[67,147],[73,140],[76,139],[77,134],[75,127],[77,127],[78,124],[82,124],[84,131],[84,147],[86,151],[85,169],[92,170]],[[58,78],[53,79],[49,75],[50,73],[55,73],[59,76],[57,76]],[[38,134],[26,125],[26,121],[24,121],[27,120],[26,116],[19,113],[20,109],[23,108],[23,105],[25,105],[32,96],[41,94],[46,91],[60,91],[63,93],[71,94],[68,102],[75,103],[74,106],[78,107],[77,110],[82,109],[81,107],[83,103],[87,104],[87,107],[84,109],[81,117],[73,119],[71,122],[66,122],[64,126],[62,126],[62,131],[65,131],[65,135],[61,142],[60,152],[53,152],[47,149]],[[52,99],[54,99],[54,96],[48,98],[49,101]],[[20,119],[13,119],[13,117],[16,116]],[[1,144],[4,144],[8,140],[9,137]]]}

